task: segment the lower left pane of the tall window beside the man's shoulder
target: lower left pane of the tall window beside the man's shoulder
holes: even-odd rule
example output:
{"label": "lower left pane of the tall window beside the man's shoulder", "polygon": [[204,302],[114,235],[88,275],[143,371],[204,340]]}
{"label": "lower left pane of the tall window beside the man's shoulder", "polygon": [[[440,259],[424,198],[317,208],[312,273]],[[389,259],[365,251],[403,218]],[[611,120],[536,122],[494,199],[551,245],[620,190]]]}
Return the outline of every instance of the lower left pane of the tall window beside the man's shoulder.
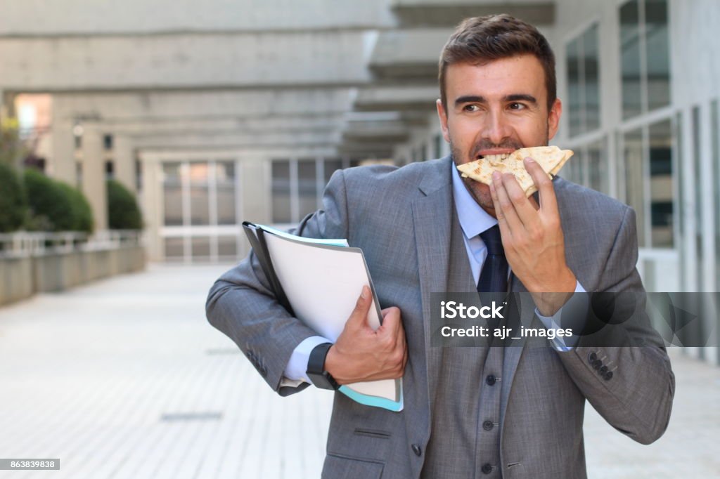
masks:
{"label": "lower left pane of the tall window beside the man's shoulder", "polygon": [[637,215],[638,245],[639,247],[646,247],[642,150],[641,129],[635,129],[624,135],[625,201],[635,210]]}

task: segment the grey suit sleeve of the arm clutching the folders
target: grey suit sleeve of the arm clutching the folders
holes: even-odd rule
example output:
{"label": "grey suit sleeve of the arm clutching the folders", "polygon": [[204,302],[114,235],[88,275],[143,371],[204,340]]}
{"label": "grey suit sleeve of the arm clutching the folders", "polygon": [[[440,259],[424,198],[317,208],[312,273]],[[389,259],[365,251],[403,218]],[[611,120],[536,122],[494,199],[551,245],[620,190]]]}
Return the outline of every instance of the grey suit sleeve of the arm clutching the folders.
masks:
{"label": "grey suit sleeve of the arm clutching the folders", "polygon": [[[342,170],[333,174],[325,188],[323,209],[306,216],[293,233],[312,238],[348,237]],[[215,281],[205,312],[210,324],[233,339],[274,391],[288,396],[308,386],[281,386],[281,380],[293,350],[317,333],[276,301],[253,251]]]}

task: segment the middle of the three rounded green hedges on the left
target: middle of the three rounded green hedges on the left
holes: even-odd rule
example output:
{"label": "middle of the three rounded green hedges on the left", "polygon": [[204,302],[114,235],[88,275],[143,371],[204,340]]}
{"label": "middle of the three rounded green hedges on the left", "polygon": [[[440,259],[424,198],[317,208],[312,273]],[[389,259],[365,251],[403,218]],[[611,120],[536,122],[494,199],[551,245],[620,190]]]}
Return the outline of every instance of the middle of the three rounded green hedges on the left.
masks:
{"label": "middle of the three rounded green hedges on the left", "polygon": [[92,232],[90,205],[77,188],[37,170],[25,170],[24,181],[30,204],[27,229]]}

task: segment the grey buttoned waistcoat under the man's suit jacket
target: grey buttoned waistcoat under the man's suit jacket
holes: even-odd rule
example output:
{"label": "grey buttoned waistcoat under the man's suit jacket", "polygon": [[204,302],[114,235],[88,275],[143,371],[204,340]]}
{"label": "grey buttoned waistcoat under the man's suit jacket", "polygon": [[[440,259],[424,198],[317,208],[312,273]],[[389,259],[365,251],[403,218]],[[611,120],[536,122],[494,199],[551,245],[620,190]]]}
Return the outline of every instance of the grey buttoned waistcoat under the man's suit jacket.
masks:
{"label": "grey buttoned waistcoat under the man's suit jacket", "polygon": [[[456,214],[451,245],[448,291],[474,291],[476,285]],[[502,347],[444,348],[422,478],[502,477],[499,426],[502,371]]]}

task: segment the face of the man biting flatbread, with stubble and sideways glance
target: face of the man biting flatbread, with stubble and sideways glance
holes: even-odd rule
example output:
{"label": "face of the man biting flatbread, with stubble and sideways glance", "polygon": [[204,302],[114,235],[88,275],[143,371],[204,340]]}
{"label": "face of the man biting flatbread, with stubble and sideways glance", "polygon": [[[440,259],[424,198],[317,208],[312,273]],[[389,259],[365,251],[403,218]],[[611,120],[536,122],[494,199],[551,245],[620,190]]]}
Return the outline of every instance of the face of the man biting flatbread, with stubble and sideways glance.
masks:
{"label": "face of the man biting flatbread, with stubble and sideways glance", "polygon": [[[447,109],[438,100],[438,116],[456,165],[545,146],[557,132],[562,104],[556,100],[548,111],[545,74],[534,55],[449,65],[445,91]],[[463,181],[477,204],[495,216],[490,187]]]}

